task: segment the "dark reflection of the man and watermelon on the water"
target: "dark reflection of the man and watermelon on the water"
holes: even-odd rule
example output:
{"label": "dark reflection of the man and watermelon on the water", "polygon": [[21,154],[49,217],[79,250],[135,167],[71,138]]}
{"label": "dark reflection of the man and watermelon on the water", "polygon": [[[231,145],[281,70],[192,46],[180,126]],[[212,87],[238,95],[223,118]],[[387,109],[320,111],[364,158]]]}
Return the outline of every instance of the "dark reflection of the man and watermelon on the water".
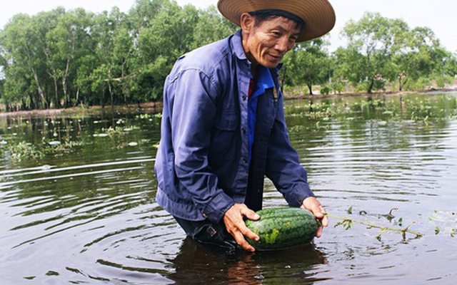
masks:
{"label": "dark reflection of the man and watermelon on the water", "polygon": [[168,278],[176,284],[306,284],[321,279],[317,265],[326,257],[312,244],[281,253],[226,253],[186,238],[171,262]]}

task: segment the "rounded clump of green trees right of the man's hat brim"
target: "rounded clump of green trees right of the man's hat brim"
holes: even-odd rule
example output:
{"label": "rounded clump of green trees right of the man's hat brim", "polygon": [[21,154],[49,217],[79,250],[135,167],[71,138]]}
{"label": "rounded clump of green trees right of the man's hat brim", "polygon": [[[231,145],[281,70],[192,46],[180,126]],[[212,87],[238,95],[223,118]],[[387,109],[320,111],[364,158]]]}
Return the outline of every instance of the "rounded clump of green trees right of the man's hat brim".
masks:
{"label": "rounded clump of green trees right of the man's hat brim", "polygon": [[456,56],[441,46],[430,28],[411,29],[401,19],[366,13],[357,22],[349,21],[341,35],[348,46],[334,53],[335,73],[351,82],[356,91],[371,93],[396,81],[400,90],[405,82],[407,88],[414,88],[424,78],[443,87],[441,78],[457,73]]}

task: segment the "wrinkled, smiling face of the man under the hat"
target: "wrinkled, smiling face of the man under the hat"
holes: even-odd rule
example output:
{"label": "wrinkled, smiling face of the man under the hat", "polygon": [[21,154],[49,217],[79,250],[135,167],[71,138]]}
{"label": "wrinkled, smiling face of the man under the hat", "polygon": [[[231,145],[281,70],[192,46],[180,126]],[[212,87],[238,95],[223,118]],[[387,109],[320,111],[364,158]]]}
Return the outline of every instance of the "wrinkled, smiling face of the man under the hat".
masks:
{"label": "wrinkled, smiling face of the man under the hat", "polygon": [[283,56],[293,48],[300,30],[295,21],[278,16],[261,21],[249,14],[241,16],[243,48],[247,58],[256,66],[275,68]]}

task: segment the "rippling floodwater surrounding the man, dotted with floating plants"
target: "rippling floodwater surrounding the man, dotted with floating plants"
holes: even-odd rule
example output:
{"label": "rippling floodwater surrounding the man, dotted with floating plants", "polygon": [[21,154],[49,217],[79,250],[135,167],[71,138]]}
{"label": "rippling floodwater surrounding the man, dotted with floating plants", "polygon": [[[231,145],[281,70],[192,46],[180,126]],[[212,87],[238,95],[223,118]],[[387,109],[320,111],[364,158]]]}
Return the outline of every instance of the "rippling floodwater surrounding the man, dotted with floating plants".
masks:
{"label": "rippling floodwater surrounding the man, dotted with floating plants", "polygon": [[[186,239],[156,204],[159,116],[0,117],[0,284],[453,284],[456,94],[288,100],[286,113],[312,189],[353,222],[256,253]],[[266,180],[264,207],[284,205]]]}

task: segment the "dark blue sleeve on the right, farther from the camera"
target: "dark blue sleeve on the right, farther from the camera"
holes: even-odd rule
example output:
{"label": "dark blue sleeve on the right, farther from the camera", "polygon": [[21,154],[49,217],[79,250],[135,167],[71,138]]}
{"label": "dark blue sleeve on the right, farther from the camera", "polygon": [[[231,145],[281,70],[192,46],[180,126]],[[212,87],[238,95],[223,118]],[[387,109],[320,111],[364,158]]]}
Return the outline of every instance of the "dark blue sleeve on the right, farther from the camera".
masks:
{"label": "dark blue sleeve on the right, farther from the camera", "polygon": [[307,175],[288,136],[281,96],[278,98],[278,111],[268,145],[266,176],[281,192],[289,206],[300,207],[304,199],[315,196],[308,185]]}

